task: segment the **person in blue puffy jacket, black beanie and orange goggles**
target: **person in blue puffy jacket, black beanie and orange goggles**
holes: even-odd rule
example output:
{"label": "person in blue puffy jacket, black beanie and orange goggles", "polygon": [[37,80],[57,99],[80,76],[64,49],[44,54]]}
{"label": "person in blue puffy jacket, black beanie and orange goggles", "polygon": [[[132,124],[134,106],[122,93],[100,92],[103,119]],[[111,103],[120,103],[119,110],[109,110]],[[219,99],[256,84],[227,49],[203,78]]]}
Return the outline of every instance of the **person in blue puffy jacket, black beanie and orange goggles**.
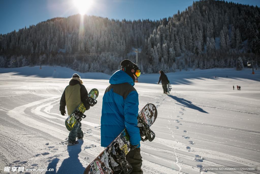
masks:
{"label": "person in blue puffy jacket, black beanie and orange goggles", "polygon": [[142,174],[140,154],[140,130],[137,127],[138,93],[134,86],[141,71],[133,62],[125,59],[109,79],[110,85],[103,96],[101,115],[101,146],[107,147],[126,128],[131,143],[131,151],[126,160],[133,167],[132,173]]}

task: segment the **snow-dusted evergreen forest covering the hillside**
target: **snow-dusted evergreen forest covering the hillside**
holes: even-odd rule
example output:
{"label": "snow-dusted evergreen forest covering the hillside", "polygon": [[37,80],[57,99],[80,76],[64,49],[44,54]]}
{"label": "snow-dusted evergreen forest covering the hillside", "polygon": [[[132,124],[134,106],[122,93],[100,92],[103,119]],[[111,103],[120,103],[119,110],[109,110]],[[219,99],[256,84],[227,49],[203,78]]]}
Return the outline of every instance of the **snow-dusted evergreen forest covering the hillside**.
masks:
{"label": "snow-dusted evergreen forest covering the hillside", "polygon": [[113,73],[127,58],[146,73],[259,64],[260,9],[225,1],[193,2],[157,21],[73,15],[0,34],[0,67],[60,65]]}

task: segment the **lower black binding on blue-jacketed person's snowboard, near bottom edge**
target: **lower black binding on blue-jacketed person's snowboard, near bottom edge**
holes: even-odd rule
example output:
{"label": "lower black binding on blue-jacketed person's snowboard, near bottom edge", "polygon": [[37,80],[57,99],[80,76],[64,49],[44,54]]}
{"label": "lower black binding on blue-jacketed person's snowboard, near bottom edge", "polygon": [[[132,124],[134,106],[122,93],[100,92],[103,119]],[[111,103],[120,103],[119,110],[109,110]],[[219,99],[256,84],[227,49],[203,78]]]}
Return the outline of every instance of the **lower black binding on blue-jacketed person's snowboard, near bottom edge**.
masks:
{"label": "lower black binding on blue-jacketed person's snowboard, near bottom edge", "polygon": [[[113,160],[119,164],[118,166],[113,166],[111,163],[111,157]],[[108,163],[109,167],[114,173],[119,174],[123,172],[124,174],[130,174],[133,170],[131,164],[128,163],[125,157],[125,153],[119,148],[119,142],[115,141],[108,148]]]}

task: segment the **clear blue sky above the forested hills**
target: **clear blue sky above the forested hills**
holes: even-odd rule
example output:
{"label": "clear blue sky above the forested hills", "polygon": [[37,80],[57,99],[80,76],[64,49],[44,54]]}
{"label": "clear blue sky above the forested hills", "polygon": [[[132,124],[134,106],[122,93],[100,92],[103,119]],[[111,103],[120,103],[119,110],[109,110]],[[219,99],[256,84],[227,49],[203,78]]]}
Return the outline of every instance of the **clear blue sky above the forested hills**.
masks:
{"label": "clear blue sky above the forested hills", "polygon": [[[0,0],[0,33],[18,31],[54,17],[79,13],[74,0]],[[88,0],[86,0],[88,1]],[[259,0],[234,0],[235,3],[260,6]],[[173,16],[192,5],[193,0],[93,0],[87,15],[109,19],[159,20]]]}

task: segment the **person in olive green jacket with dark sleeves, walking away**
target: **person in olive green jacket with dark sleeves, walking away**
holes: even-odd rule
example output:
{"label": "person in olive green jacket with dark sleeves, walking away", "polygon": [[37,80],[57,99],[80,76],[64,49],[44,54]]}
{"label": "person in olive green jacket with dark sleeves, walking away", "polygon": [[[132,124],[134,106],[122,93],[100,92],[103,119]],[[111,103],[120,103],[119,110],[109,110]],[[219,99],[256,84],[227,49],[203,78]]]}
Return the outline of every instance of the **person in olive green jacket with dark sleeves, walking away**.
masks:
{"label": "person in olive green jacket with dark sleeves, walking away", "polygon": [[[82,102],[86,107],[86,110],[90,108],[88,103],[88,91],[84,85],[82,85],[83,81],[81,80],[78,74],[73,74],[72,78],[69,81],[69,85],[65,88],[61,100],[60,100],[60,111],[61,115],[65,115],[65,106],[67,105],[68,115],[72,114],[72,112],[76,109],[76,107]],[[79,142],[77,139],[83,139],[83,132],[81,130],[81,122],[77,122],[72,131],[69,133],[68,145],[75,145]]]}

